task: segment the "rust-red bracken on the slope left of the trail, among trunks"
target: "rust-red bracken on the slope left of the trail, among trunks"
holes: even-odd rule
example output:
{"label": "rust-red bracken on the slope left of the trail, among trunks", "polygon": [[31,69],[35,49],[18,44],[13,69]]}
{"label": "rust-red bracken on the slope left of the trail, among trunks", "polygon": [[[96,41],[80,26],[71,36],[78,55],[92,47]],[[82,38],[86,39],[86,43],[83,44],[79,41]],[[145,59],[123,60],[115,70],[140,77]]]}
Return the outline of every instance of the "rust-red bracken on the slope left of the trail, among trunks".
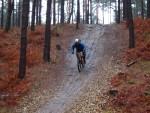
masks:
{"label": "rust-red bracken on the slope left of the trail, among trunks", "polygon": [[[75,32],[74,25],[57,25],[52,27],[51,62],[56,63],[56,45],[58,37],[71,36]],[[17,105],[19,98],[30,90],[32,75],[28,69],[43,63],[42,52],[44,42],[44,26],[36,27],[28,32],[27,74],[24,80],[18,80],[20,31],[14,28],[6,33],[0,30],[0,106]],[[59,43],[60,44],[60,43]],[[60,45],[61,46],[61,45]]]}

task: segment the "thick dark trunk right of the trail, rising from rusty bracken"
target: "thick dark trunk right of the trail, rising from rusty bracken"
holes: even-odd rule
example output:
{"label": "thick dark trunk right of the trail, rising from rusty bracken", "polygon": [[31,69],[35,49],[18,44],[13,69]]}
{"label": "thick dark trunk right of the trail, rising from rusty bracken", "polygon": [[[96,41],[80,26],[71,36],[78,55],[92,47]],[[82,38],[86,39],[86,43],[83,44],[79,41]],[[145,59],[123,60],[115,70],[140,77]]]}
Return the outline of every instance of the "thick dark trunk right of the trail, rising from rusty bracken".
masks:
{"label": "thick dark trunk right of the trail, rising from rusty bracken", "polygon": [[129,25],[129,48],[135,47],[135,36],[134,36],[134,24],[133,24],[133,15],[131,0],[127,0],[127,21]]}

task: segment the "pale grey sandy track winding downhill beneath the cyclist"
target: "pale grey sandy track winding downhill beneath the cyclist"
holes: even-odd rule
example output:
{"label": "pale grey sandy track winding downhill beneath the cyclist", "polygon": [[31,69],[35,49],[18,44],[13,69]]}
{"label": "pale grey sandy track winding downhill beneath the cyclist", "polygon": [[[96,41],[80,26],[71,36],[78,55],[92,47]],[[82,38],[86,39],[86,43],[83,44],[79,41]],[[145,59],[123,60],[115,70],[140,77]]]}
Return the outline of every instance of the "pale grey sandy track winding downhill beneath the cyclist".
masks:
{"label": "pale grey sandy track winding downhill beneath the cyclist", "polygon": [[67,107],[81,95],[81,90],[86,87],[95,73],[97,73],[96,51],[97,49],[103,51],[100,40],[104,34],[104,27],[102,25],[86,25],[85,27],[85,31],[82,35],[74,37],[74,39],[81,39],[86,46],[87,63],[85,68],[81,73],[78,72],[76,56],[71,54],[71,48],[69,48],[65,59],[66,65],[64,66],[64,74],[66,76],[63,80],[63,85],[59,91],[56,92],[55,97],[43,105],[37,113],[64,113]]}

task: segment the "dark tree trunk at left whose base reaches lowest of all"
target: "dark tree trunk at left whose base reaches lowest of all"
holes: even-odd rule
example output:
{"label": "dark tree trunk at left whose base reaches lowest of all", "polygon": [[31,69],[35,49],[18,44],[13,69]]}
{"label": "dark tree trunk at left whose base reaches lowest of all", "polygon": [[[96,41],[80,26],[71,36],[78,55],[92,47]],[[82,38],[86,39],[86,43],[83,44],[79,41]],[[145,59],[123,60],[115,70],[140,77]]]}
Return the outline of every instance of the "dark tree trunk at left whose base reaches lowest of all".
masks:
{"label": "dark tree trunk at left whose base reaches lowest of all", "polygon": [[21,21],[21,46],[19,59],[18,78],[23,79],[26,74],[26,49],[27,49],[27,27],[29,19],[29,1],[23,0],[22,21]]}

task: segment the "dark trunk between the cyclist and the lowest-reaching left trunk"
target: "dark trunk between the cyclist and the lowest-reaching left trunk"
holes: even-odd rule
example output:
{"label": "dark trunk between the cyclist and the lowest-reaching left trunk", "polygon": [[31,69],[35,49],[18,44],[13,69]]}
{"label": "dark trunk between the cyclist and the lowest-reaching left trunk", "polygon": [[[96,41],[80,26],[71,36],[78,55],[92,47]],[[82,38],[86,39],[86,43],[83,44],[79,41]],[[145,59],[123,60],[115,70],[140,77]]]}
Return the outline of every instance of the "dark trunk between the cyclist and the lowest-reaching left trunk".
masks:
{"label": "dark trunk between the cyclist and the lowest-reaching left trunk", "polygon": [[46,12],[46,26],[45,26],[45,40],[44,40],[44,54],[43,60],[50,62],[50,45],[51,45],[51,4],[52,0],[47,1]]}

